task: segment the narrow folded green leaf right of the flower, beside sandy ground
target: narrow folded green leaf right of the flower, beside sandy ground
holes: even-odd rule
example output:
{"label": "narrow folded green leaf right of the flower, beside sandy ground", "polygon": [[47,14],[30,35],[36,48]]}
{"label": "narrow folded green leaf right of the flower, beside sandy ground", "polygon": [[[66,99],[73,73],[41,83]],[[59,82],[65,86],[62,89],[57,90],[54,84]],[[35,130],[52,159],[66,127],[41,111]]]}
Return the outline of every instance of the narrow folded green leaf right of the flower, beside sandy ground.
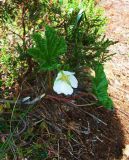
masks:
{"label": "narrow folded green leaf right of the flower, beside sandy ground", "polygon": [[107,109],[113,109],[113,102],[108,96],[108,81],[104,72],[103,65],[96,63],[93,68],[95,77],[93,78],[93,92],[99,100],[99,104]]}

